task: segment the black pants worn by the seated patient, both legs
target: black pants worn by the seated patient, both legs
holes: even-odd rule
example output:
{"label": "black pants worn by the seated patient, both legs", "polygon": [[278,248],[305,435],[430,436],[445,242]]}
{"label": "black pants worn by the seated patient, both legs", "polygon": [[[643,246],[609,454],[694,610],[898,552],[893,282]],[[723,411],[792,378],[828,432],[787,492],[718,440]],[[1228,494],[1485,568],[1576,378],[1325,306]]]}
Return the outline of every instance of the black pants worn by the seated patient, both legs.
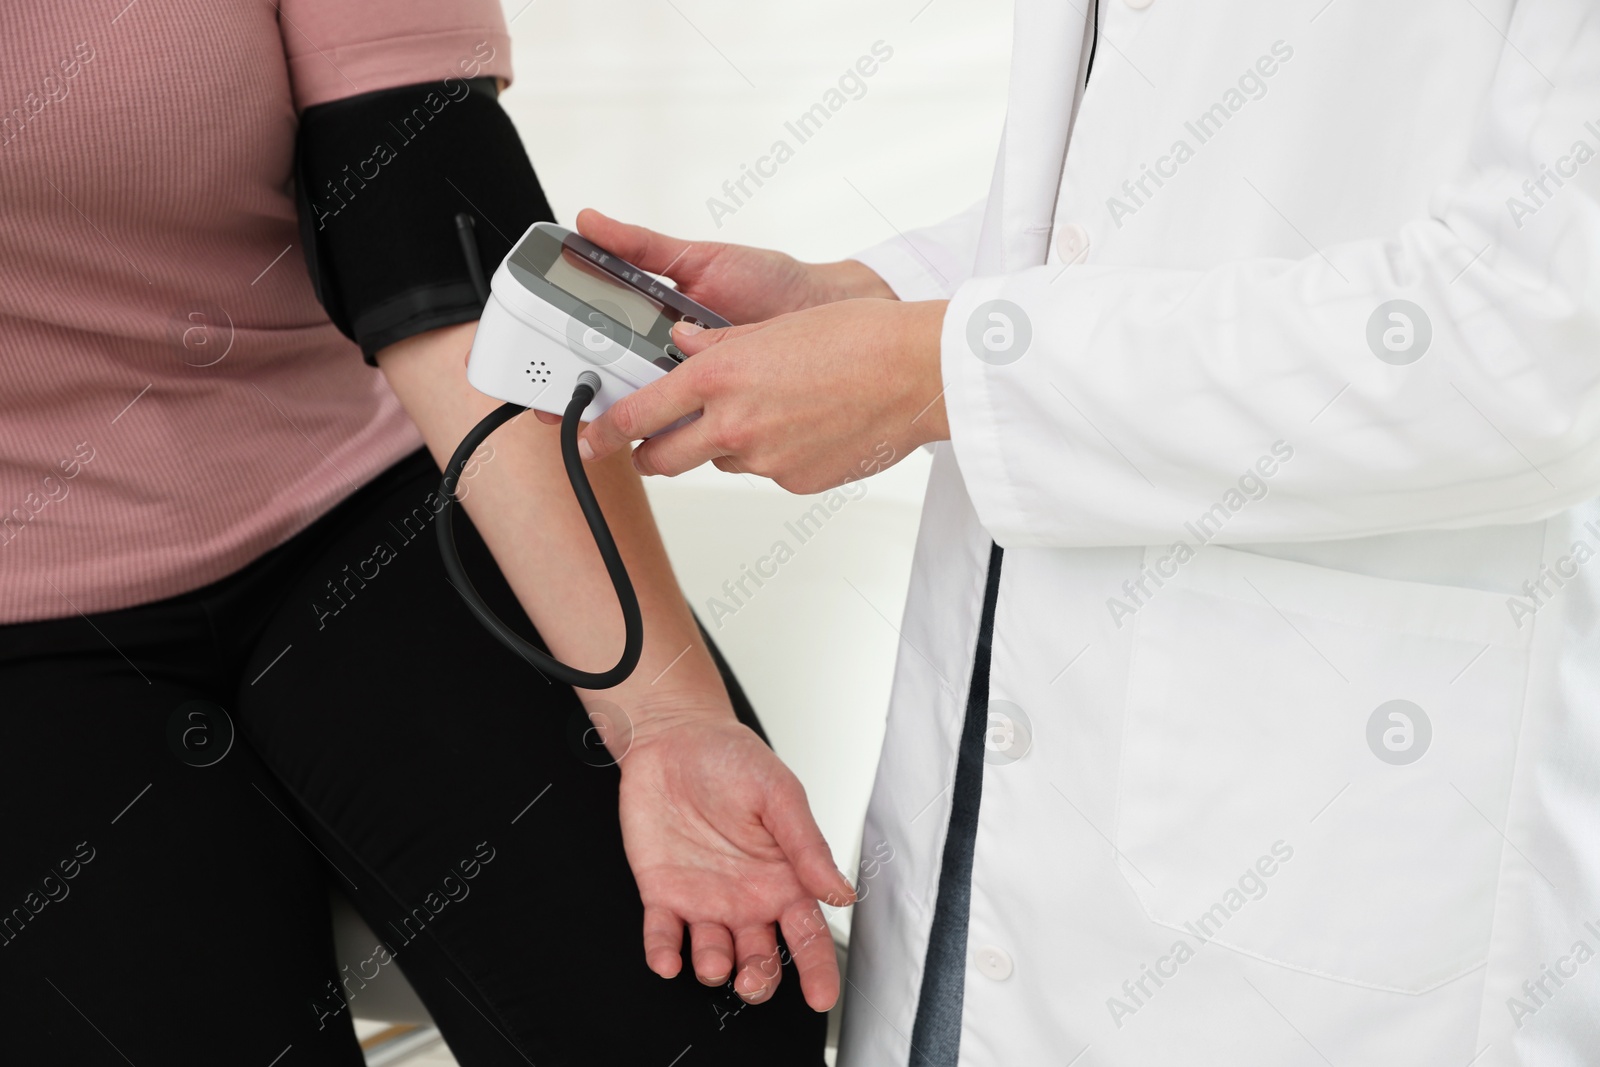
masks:
{"label": "black pants worn by the seated patient, both legs", "polygon": [[[646,969],[618,769],[445,581],[437,483],[419,451],[221,582],[0,627],[19,1062],[354,1067],[362,974],[386,966],[466,1067],[822,1062],[794,973],[741,1006],[686,957]],[[458,539],[531,633],[466,515]],[[328,883],[382,939],[354,969]]]}

